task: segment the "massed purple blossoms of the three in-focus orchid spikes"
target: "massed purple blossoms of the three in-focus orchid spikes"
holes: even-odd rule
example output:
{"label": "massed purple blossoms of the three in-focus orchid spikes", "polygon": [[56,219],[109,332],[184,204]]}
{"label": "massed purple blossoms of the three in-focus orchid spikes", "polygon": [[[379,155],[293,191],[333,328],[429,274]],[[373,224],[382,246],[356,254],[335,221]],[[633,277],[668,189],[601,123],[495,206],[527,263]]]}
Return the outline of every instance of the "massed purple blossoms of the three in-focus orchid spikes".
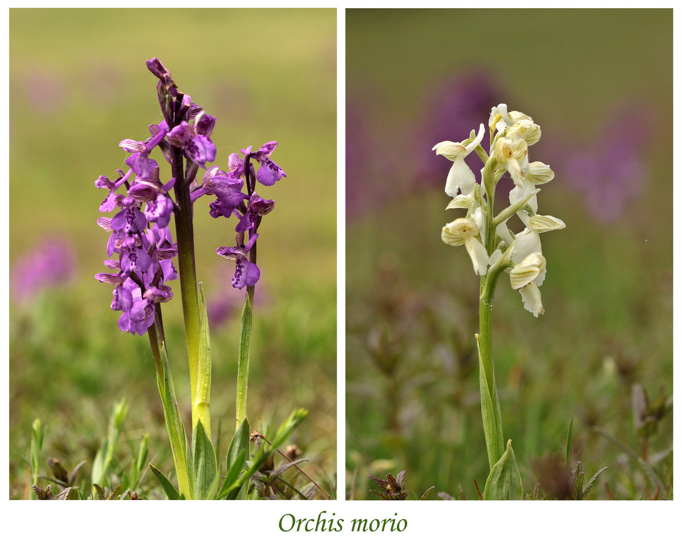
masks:
{"label": "massed purple blossoms of the three in-focus orchid spikes", "polygon": [[[255,181],[269,186],[286,176],[270,158],[277,147],[274,141],[266,143],[257,152],[251,152],[251,148],[242,150],[243,160],[237,154],[231,154],[228,172],[217,166],[207,167],[206,163],[216,158],[216,146],[211,141],[216,117],[203,111],[189,95],[178,92],[170,72],[158,59],[147,61],[147,68],[159,79],[157,92],[164,120],[158,125],[149,125],[151,136],[147,140],[124,139],[119,143],[130,153],[125,160],[127,172],[117,171],[119,176],[115,180],[100,176],[95,181],[96,187],[108,191],[100,212],[119,210],[112,218],[101,217],[97,222],[111,233],[107,244],[110,259],[104,264],[115,272],[100,273],[95,278],[114,286],[111,308],[123,311],[119,319],[121,331],[139,335],[146,333],[153,324],[156,303],[173,298],[173,292],[165,283],[178,277],[173,266],[177,243],[173,242],[168,224],[170,216],[182,210],[168,191],[178,187],[187,191],[189,187],[188,209],[198,197],[213,195],[216,200],[209,205],[211,216],[229,217],[234,213],[239,218],[237,245],[220,247],[217,252],[237,261],[232,285],[241,289],[254,285],[260,277],[260,270],[253,258],[249,260],[248,253],[258,238],[256,229],[261,216],[274,206],[274,201],[258,197]],[[179,154],[184,156],[186,169],[180,169],[163,183],[158,163],[149,156],[155,148],[162,152],[171,167],[174,157],[177,165]],[[260,165],[257,175],[251,160]],[[199,168],[207,169],[201,184],[195,179]],[[242,193],[245,181],[246,194]],[[125,194],[118,193],[121,188],[125,189]],[[192,210],[187,213],[192,214]]]}

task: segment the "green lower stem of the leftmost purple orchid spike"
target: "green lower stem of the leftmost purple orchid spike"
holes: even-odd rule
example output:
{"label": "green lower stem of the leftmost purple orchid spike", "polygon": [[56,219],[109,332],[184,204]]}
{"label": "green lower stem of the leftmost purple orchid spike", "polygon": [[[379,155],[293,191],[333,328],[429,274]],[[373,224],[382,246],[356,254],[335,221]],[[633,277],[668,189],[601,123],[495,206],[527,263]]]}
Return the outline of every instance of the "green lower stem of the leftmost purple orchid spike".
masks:
{"label": "green lower stem of the leftmost purple orchid spike", "polygon": [[[160,329],[159,333],[157,333],[156,324],[158,322],[160,322],[160,311],[157,309],[156,320],[151,324],[149,329],[147,329],[151,353],[153,354],[154,363],[156,365],[156,382],[159,387],[161,402],[164,406],[164,419],[166,421],[168,439],[170,440],[170,449],[173,451],[173,462],[175,462],[178,488],[180,493],[184,494],[187,499],[192,499],[192,484],[187,463],[187,440],[177,408],[173,378],[170,376],[170,369],[168,369],[168,357],[165,354],[166,347],[162,341],[164,336],[163,329]],[[166,378],[168,379],[168,384],[166,384]],[[168,393],[170,393],[170,395],[167,395]],[[172,399],[170,399],[171,397]]]}

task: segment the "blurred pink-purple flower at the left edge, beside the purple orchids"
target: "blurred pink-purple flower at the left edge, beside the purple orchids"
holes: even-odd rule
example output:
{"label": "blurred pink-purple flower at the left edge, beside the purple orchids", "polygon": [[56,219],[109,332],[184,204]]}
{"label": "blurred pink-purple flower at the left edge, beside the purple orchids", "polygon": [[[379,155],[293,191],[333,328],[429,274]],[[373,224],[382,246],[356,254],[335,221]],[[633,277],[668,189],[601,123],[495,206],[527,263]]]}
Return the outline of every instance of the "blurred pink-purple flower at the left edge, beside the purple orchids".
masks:
{"label": "blurred pink-purple flower at the left edge, beside the purple orchids", "polygon": [[75,276],[76,253],[65,237],[50,238],[19,257],[10,272],[10,293],[20,304],[30,303],[47,288],[56,288]]}

